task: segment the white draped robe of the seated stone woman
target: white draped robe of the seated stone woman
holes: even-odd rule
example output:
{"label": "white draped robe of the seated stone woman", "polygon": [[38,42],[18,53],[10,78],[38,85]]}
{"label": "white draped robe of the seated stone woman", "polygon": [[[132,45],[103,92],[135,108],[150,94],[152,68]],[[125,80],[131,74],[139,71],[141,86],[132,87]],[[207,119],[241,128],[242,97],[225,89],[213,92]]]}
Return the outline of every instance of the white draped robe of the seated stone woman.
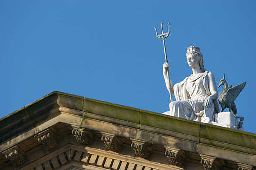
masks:
{"label": "white draped robe of the seated stone woman", "polygon": [[[164,114],[198,121],[195,113],[204,110],[204,101],[211,95],[208,81],[209,73],[209,71],[205,71],[195,79],[191,79],[191,75],[182,82],[174,84],[173,90],[176,101],[170,103],[170,112]],[[214,113],[218,113],[219,105],[217,100],[213,100],[213,103],[215,105]]]}

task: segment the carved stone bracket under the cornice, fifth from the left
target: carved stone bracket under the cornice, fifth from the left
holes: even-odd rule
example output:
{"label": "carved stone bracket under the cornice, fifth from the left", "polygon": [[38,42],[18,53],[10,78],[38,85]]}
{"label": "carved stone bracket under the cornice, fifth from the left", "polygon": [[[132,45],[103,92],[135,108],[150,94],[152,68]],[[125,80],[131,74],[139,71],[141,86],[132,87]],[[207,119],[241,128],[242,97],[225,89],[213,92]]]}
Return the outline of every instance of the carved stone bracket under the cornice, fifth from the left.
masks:
{"label": "carved stone bracket under the cornice, fifth from the left", "polygon": [[145,141],[132,139],[131,147],[135,151],[136,157],[142,157],[142,158],[148,158],[151,156],[152,149],[150,147],[150,144]]}

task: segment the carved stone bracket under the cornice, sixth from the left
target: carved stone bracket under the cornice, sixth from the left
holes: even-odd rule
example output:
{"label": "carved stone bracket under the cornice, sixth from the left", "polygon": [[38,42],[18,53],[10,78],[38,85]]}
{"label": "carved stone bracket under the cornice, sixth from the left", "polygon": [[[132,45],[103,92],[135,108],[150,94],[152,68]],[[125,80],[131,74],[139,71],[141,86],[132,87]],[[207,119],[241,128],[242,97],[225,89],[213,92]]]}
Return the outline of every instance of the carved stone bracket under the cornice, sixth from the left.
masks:
{"label": "carved stone bracket under the cornice, sixth from the left", "polygon": [[169,164],[176,165],[178,167],[185,167],[186,165],[186,156],[184,155],[184,151],[165,146],[165,155],[168,157]]}

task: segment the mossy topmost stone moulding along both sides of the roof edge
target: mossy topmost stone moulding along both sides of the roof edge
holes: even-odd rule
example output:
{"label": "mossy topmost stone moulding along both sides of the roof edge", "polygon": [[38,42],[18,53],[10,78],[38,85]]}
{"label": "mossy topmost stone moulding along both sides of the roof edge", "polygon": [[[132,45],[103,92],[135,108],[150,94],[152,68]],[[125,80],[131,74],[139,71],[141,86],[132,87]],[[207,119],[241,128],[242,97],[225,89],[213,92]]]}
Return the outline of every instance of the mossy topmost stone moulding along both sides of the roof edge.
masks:
{"label": "mossy topmost stone moulding along both sides of the roof edge", "polygon": [[[83,117],[81,125],[86,119],[98,119],[148,132],[158,129],[154,133],[164,135],[168,135],[167,132],[171,131],[187,136],[186,140],[196,143],[218,147],[225,147],[223,144],[226,144],[229,145],[228,149],[238,150],[237,147],[240,147],[239,152],[256,155],[256,134],[250,132],[195,122],[59,91],[53,91],[1,118],[0,145],[46,121],[50,117],[51,110],[58,107],[79,111],[76,113]],[[221,145],[217,145],[217,143],[221,143]]]}

